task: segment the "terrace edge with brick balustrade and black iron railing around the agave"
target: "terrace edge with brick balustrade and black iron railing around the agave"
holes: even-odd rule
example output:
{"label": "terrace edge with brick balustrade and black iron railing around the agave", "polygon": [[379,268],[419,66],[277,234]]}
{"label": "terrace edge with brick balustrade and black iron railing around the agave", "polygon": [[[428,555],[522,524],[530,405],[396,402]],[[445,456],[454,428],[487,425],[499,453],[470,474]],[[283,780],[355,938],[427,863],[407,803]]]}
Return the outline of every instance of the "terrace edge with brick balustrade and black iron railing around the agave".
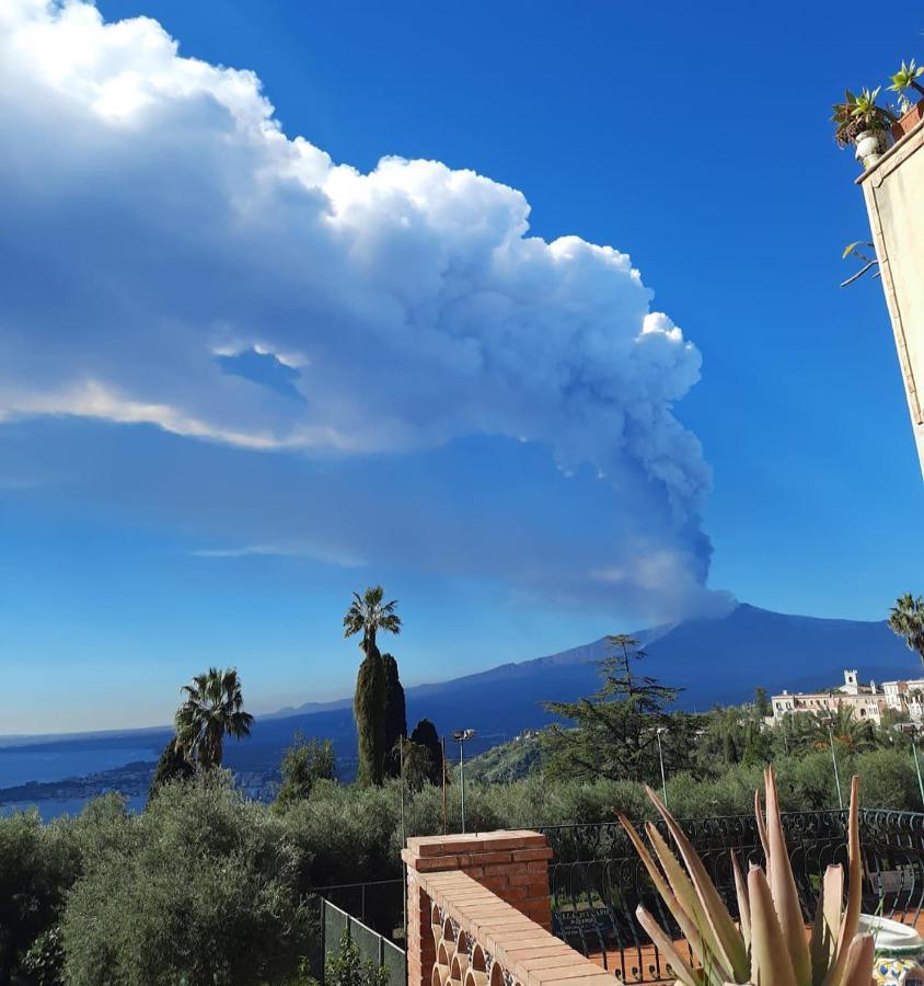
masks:
{"label": "terrace edge with brick balustrade and black iron railing around the agave", "polygon": [[[846,863],[841,812],[784,814],[806,920],[830,863]],[[731,855],[763,862],[753,816],[688,819],[729,909]],[[921,930],[924,814],[861,812],[863,909]],[[645,905],[680,931],[616,823],[409,839],[411,986],[605,986],[671,981],[635,918]],[[567,981],[567,982],[566,982]]]}

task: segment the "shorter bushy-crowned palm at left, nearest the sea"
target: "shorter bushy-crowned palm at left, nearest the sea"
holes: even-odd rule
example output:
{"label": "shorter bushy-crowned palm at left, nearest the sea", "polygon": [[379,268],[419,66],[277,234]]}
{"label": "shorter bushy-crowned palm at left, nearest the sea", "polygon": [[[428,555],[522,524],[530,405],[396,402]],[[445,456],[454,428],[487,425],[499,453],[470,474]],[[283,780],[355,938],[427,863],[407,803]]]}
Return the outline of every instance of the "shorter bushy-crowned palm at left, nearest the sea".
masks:
{"label": "shorter bushy-crowned palm at left, nearest the sea", "polygon": [[200,770],[221,766],[224,735],[250,736],[254,718],[244,712],[241,679],[234,667],[210,667],[181,689],[186,695],[176,710],[176,745]]}

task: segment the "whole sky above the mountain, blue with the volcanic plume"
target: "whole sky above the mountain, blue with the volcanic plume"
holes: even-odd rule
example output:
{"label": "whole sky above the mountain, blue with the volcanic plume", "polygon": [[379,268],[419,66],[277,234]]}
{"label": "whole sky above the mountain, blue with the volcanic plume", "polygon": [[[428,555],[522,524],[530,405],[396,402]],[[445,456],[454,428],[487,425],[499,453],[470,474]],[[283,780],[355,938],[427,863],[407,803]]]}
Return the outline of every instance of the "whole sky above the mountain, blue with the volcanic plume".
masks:
{"label": "whole sky above the mountain, blue with the volcanic plume", "polygon": [[[253,70],[285,135],[335,163],[446,169],[349,191],[358,232],[319,246],[310,196],[280,184],[251,203],[257,151],[216,150],[210,100],[243,116],[247,93],[164,83],[138,110],[97,88],[85,119],[103,123],[77,115],[113,59],[170,77],[170,58],[132,50],[145,32],[92,79],[33,59],[21,89],[5,81],[22,139],[0,169],[16,193],[0,242],[0,732],[162,722],[208,663],[236,664],[257,709],[346,693],[339,618],[377,581],[402,600],[407,681],[713,611],[719,592],[875,619],[920,589],[921,473],[879,286],[838,287],[867,227],[828,124],[845,85],[920,57],[910,8],[99,9]],[[71,51],[102,44],[88,31]],[[46,74],[25,78],[33,62]],[[305,160],[336,199],[328,165]],[[478,280],[485,238],[521,237],[510,190],[530,236],[631,255],[654,298],[580,241],[568,273],[518,254]],[[406,238],[400,195],[424,217]],[[487,306],[457,319],[439,301],[453,340],[462,323],[477,336],[467,375],[467,348],[385,317],[394,297],[427,317],[435,255]],[[516,339],[488,295],[517,312]],[[670,322],[639,345],[646,306]],[[190,343],[206,324],[211,369]],[[281,363],[241,348],[267,333]],[[105,390],[80,390],[91,377]]]}

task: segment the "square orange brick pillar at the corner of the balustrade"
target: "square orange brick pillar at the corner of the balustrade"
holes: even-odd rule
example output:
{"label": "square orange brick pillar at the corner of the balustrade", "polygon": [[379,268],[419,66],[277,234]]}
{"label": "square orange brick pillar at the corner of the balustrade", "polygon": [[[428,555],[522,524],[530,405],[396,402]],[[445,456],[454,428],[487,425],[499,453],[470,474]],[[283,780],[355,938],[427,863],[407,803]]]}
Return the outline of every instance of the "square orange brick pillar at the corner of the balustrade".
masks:
{"label": "square orange brick pillar at the corner of the balustrade", "polygon": [[548,897],[548,840],[538,832],[482,832],[421,836],[407,840],[407,982],[430,986],[436,949],[430,903],[418,873],[462,870],[544,930],[552,928]]}

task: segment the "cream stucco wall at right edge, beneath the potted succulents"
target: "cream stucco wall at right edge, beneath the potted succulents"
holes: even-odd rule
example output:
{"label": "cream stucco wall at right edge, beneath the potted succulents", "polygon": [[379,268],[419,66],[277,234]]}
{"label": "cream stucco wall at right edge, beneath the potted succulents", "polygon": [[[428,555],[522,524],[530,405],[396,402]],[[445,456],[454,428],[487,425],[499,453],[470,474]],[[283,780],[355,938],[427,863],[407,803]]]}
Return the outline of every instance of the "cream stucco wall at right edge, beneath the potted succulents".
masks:
{"label": "cream stucco wall at right edge, beneath the potted succulents", "polygon": [[859,182],[924,472],[924,124]]}

